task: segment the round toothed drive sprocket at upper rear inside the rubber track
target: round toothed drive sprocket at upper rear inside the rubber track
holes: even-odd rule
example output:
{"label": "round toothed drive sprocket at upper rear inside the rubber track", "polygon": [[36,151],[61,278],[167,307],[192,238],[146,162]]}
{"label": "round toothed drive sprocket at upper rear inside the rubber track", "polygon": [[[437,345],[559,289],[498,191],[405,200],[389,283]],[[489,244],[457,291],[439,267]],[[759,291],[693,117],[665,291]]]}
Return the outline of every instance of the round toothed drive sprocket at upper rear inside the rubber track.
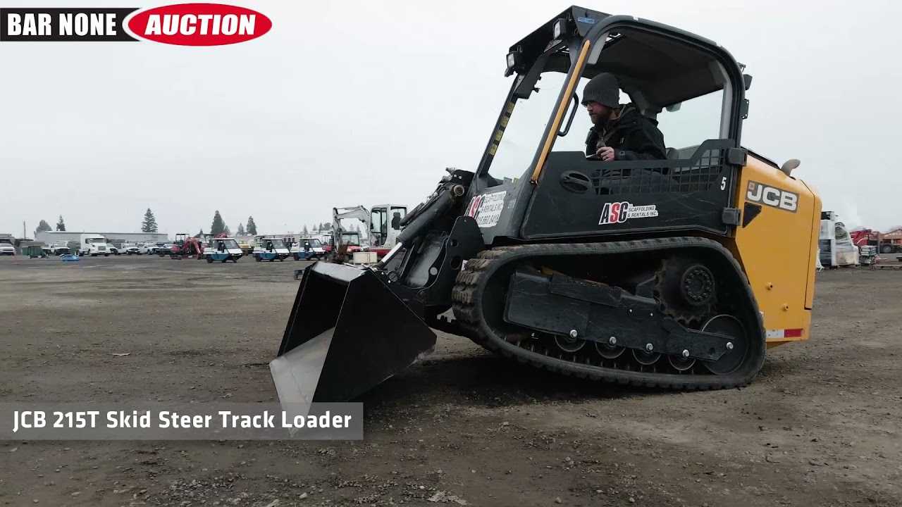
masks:
{"label": "round toothed drive sprocket at upper rear inside the rubber track", "polygon": [[717,282],[703,263],[671,256],[661,261],[655,273],[655,296],[660,310],[685,326],[701,324],[717,303]]}

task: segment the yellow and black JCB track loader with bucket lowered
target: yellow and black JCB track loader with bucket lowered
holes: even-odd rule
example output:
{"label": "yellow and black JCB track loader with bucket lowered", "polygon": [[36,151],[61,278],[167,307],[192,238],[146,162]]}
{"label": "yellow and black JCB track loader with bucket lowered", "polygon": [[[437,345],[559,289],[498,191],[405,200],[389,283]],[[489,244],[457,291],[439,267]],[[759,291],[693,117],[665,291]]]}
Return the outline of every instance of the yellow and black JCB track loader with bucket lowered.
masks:
{"label": "yellow and black JCB track loader with bucket lowered", "polygon": [[[349,401],[433,329],[592,381],[749,383],[767,348],[808,337],[821,200],[798,161],[741,146],[744,69],[713,41],[575,6],[512,46],[478,168],[448,170],[381,263],[304,273],[271,364],[281,401]],[[586,155],[573,127],[592,127],[578,109],[601,72],[666,157]]]}

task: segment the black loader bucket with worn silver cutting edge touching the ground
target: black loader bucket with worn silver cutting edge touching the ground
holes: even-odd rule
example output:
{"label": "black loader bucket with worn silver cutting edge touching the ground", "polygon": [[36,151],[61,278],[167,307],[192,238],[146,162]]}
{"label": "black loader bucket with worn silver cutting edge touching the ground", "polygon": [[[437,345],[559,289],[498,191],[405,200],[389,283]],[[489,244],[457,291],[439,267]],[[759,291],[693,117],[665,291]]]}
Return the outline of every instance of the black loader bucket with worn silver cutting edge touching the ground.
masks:
{"label": "black loader bucket with worn silver cutting edge touching the ground", "polygon": [[283,406],[351,401],[435,345],[432,329],[373,272],[315,263],[301,277],[270,372]]}

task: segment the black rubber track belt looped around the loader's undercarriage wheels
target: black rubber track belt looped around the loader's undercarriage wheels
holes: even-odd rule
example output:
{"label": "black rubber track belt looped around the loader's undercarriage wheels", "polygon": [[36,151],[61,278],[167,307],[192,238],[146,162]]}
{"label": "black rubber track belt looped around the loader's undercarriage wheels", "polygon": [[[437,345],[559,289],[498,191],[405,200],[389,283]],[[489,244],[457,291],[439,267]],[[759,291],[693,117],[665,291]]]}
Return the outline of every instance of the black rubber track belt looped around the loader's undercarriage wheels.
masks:
{"label": "black rubber track belt looped around the loader's undercarriage wheels", "polygon": [[[743,305],[743,307],[754,312],[753,316],[747,317],[753,318],[760,330],[759,343],[750,343],[750,354],[753,355],[751,359],[752,367],[741,376],[736,374],[642,373],[573,363],[531,352],[526,348],[507,342],[502,337],[496,336],[483,322],[480,305],[482,290],[491,278],[492,273],[504,264],[516,262],[523,258],[541,256],[561,257],[567,255],[604,255],[653,251],[672,252],[686,248],[711,249],[721,253],[723,260],[732,265],[735,275],[741,280],[741,285],[747,296],[746,300],[751,308],[748,305]],[[739,288],[732,287],[731,289],[736,290]],[[758,303],[740,264],[722,244],[700,237],[670,237],[587,244],[527,244],[492,248],[479,253],[476,258],[467,261],[465,268],[457,274],[452,301],[457,323],[468,331],[466,335],[477,345],[504,357],[515,359],[520,363],[546,369],[553,373],[575,375],[579,378],[587,378],[603,383],[621,383],[652,388],[661,387],[680,391],[741,387],[750,383],[751,379],[759,372],[761,365],[764,363],[764,353],[767,349]],[[753,336],[749,336],[749,338],[751,340]]]}

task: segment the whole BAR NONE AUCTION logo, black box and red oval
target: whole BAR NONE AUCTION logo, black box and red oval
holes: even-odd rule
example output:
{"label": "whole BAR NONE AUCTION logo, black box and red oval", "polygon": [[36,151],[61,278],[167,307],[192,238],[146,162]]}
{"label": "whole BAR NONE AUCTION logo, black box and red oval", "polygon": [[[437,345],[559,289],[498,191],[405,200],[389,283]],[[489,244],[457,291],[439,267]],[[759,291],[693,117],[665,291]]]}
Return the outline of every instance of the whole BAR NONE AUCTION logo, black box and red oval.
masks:
{"label": "whole BAR NONE AUCTION logo, black box and red oval", "polygon": [[266,15],[225,4],[134,8],[0,8],[0,41],[155,41],[221,46],[272,28]]}

